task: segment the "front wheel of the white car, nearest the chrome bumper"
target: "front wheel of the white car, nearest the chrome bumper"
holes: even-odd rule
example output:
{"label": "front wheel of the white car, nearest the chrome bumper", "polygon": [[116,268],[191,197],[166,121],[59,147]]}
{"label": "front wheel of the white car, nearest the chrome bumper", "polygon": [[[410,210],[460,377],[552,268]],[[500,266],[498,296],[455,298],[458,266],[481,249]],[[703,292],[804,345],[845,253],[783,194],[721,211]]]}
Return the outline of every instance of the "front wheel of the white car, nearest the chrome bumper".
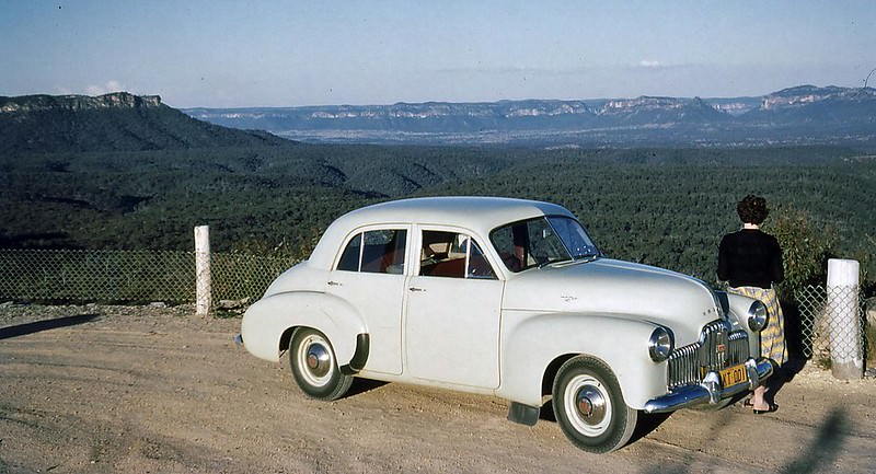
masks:
{"label": "front wheel of the white car, nearest the chrome bumper", "polygon": [[623,401],[620,384],[603,362],[578,356],[566,361],[553,386],[556,421],[576,447],[609,452],[633,436],[638,412]]}

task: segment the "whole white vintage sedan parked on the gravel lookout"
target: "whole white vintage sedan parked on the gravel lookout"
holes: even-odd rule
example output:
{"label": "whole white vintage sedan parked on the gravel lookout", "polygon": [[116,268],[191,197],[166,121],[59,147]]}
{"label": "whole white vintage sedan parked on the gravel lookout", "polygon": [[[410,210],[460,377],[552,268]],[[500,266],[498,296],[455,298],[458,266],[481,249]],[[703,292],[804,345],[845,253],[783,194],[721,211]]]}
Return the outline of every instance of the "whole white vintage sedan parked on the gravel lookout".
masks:
{"label": "whole white vintage sedan parked on the gravel lookout", "polygon": [[606,257],[565,208],[404,199],[335,220],[243,316],[308,395],[354,377],[495,395],[534,425],[552,403],[580,449],[626,443],[641,412],[719,407],[772,374],[759,301]]}

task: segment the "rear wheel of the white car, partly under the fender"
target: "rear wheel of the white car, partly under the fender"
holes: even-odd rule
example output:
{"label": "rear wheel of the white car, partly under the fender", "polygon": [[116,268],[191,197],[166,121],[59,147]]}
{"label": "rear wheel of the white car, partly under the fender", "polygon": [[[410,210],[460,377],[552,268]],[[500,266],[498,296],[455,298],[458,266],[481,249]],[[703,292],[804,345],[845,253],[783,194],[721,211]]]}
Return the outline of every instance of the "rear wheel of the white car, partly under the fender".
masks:
{"label": "rear wheel of the white car, partly under the fender", "polygon": [[298,386],[311,398],[337,400],[353,384],[353,377],[341,373],[335,351],[319,331],[299,327],[289,342],[289,366]]}

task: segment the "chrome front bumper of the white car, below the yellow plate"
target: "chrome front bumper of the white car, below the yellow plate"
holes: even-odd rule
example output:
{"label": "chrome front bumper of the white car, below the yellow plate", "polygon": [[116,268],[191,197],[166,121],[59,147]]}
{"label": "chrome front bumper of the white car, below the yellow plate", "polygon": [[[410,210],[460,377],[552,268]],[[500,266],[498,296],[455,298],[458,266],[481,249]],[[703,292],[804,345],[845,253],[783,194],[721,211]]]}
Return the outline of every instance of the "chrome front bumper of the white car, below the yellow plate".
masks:
{"label": "chrome front bumper of the white car, below the yellow plate", "polygon": [[708,372],[698,385],[685,385],[672,390],[666,395],[658,396],[645,403],[646,413],[675,412],[702,403],[716,404],[744,391],[751,391],[761,385],[764,380],[773,374],[773,362],[761,357],[746,360],[748,382],[724,388],[717,372]]}

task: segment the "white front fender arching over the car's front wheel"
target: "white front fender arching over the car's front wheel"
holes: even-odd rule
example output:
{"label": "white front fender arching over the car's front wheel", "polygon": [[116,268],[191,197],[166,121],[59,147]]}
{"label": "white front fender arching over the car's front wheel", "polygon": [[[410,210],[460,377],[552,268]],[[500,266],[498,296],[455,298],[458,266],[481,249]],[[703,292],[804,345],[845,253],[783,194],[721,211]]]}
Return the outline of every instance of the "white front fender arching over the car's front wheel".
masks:
{"label": "white front fender arching over the car's front wheel", "polygon": [[557,359],[587,355],[606,362],[621,385],[624,402],[642,409],[666,394],[666,365],[648,356],[656,324],[624,315],[511,312],[503,317],[500,396],[542,405],[542,379]]}

